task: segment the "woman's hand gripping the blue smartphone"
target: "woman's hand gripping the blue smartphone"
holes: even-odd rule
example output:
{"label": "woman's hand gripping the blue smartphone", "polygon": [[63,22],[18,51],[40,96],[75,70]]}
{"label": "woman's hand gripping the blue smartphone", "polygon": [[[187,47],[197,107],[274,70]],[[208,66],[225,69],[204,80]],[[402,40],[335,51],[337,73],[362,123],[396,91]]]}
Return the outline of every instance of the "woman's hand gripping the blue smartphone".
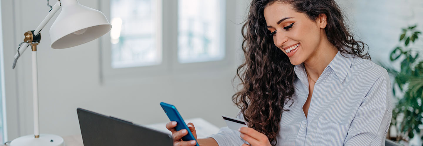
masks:
{"label": "woman's hand gripping the blue smartphone", "polygon": [[[187,135],[188,131],[185,129],[176,131],[175,129],[176,125],[177,123],[175,121],[171,121],[166,124],[166,128],[168,128],[168,130],[172,132],[173,146],[195,146],[195,143],[196,143],[195,140],[182,141],[181,138]],[[197,139],[197,133],[195,132],[194,124],[188,123],[188,128],[190,128],[190,131],[192,135],[194,135],[194,138]]]}

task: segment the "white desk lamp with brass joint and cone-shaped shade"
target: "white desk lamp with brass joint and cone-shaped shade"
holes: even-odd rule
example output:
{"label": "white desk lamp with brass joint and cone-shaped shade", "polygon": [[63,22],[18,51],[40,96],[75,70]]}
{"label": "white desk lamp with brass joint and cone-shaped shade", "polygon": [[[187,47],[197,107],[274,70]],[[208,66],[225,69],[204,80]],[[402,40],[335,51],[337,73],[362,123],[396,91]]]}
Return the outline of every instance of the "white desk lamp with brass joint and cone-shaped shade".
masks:
{"label": "white desk lamp with brass joint and cone-shaped shade", "polygon": [[[102,12],[80,5],[77,0],[58,0],[35,30],[25,32],[25,39],[19,44],[13,68],[21,53],[30,47],[32,50],[34,135],[16,138],[11,141],[10,146],[64,146],[63,138],[58,135],[40,135],[38,119],[37,45],[41,40],[41,29],[60,8],[62,11],[50,28],[51,48],[63,49],[81,45],[103,36],[112,28]],[[23,43],[27,43],[27,46],[19,52]]]}

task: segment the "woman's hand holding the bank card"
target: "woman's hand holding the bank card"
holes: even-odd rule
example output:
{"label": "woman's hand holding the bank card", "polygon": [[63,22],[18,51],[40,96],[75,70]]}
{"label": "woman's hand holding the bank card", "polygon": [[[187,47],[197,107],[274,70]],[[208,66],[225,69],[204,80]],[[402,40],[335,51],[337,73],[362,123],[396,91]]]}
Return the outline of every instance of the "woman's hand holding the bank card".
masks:
{"label": "woman's hand holding the bank card", "polygon": [[[266,135],[253,128],[241,127],[239,128],[239,132],[241,132],[241,138],[250,143],[251,146],[272,146]],[[244,143],[242,146],[250,145]]]}

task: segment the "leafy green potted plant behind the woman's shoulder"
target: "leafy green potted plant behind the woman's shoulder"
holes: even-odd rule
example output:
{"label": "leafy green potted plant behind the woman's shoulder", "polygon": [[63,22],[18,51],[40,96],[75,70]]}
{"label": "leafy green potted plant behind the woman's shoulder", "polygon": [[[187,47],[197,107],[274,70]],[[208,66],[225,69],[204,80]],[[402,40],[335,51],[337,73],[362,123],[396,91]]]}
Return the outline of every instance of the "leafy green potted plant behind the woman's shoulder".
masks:
{"label": "leafy green potted plant behind the woman's shoulder", "polygon": [[423,127],[423,58],[419,55],[423,47],[415,44],[421,35],[416,27],[402,29],[400,45],[390,53],[391,62],[400,62],[399,70],[379,62],[394,80],[392,91],[398,102],[394,102],[391,125],[397,131],[396,141],[409,142],[416,133],[420,136]]}

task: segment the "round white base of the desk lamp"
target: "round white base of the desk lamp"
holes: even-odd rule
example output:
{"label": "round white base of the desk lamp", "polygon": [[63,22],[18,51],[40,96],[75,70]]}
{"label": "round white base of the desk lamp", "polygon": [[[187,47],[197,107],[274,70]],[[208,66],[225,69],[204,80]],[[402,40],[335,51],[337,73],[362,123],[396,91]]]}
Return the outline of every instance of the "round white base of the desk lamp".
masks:
{"label": "round white base of the desk lamp", "polygon": [[14,139],[10,146],[65,146],[63,138],[58,135],[40,134],[39,138],[34,135],[25,135]]}

